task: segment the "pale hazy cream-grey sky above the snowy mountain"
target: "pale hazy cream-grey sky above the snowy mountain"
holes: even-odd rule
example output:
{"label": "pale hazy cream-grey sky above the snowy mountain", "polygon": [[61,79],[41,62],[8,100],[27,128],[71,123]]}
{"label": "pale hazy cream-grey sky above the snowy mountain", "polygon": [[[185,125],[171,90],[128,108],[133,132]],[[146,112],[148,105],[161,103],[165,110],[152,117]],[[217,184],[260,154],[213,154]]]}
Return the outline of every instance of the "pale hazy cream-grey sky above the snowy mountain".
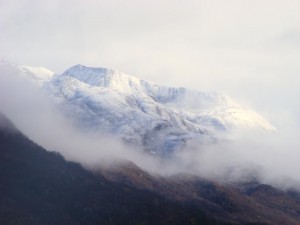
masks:
{"label": "pale hazy cream-grey sky above the snowy mountain", "polygon": [[0,57],[215,89],[300,125],[300,0],[0,0]]}

